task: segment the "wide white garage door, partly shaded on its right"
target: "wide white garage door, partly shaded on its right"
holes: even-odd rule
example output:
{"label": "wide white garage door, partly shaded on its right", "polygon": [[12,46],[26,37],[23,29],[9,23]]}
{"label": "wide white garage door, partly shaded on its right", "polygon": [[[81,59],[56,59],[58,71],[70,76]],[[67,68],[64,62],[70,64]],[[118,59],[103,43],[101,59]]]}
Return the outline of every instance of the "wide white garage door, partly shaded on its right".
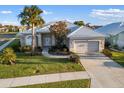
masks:
{"label": "wide white garage door, partly shaded on its right", "polygon": [[99,51],[99,42],[97,41],[76,41],[76,53],[91,53]]}

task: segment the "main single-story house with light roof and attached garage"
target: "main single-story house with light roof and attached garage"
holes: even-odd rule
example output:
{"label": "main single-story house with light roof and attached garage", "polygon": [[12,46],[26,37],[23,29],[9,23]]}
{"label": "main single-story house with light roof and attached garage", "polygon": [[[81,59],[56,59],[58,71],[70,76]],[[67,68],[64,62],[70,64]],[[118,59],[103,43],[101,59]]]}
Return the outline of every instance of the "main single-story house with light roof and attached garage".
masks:
{"label": "main single-story house with light roof and attached garage", "polygon": [[[100,33],[94,32],[89,27],[78,27],[73,23],[65,21],[69,34],[67,35],[66,45],[70,51],[76,53],[99,52],[104,49],[104,36]],[[55,45],[54,35],[49,31],[50,25],[55,22],[46,24],[43,28],[36,28],[36,46],[50,47]],[[31,30],[20,33],[21,46],[31,45],[32,36]]]}

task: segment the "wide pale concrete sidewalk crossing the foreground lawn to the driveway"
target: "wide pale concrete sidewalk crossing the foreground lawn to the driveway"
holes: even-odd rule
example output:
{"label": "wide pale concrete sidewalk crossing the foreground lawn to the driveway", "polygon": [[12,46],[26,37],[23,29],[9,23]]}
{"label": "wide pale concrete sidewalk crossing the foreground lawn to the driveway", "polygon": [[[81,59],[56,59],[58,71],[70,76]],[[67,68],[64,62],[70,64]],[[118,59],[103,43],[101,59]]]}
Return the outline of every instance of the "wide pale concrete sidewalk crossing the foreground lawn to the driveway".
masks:
{"label": "wide pale concrete sidewalk crossing the foreground lawn to the driveway", "polygon": [[18,77],[9,79],[0,79],[0,87],[16,87],[32,84],[43,84],[65,80],[90,79],[86,71],[56,73],[46,75],[36,75],[28,77]]}

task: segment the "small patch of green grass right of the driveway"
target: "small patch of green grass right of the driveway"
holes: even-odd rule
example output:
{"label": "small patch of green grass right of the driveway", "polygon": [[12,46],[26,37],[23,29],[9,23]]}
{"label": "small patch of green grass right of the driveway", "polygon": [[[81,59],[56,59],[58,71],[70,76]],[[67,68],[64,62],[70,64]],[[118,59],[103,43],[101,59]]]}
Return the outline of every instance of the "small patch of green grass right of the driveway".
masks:
{"label": "small patch of green grass right of the driveway", "polygon": [[124,67],[124,52],[111,51],[112,59]]}

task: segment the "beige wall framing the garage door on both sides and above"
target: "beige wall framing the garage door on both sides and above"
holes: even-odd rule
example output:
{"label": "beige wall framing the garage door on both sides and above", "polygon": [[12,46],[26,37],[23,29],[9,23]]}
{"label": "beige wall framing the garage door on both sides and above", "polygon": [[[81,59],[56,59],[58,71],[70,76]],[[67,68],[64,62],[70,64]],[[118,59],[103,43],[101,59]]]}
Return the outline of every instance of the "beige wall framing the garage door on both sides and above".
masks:
{"label": "beige wall framing the garage door on both sides and above", "polygon": [[104,38],[93,39],[93,40],[70,39],[69,40],[69,49],[72,52],[76,52],[75,41],[98,41],[99,42],[99,52],[102,52],[102,50],[104,49],[104,43],[105,43],[105,39]]}

